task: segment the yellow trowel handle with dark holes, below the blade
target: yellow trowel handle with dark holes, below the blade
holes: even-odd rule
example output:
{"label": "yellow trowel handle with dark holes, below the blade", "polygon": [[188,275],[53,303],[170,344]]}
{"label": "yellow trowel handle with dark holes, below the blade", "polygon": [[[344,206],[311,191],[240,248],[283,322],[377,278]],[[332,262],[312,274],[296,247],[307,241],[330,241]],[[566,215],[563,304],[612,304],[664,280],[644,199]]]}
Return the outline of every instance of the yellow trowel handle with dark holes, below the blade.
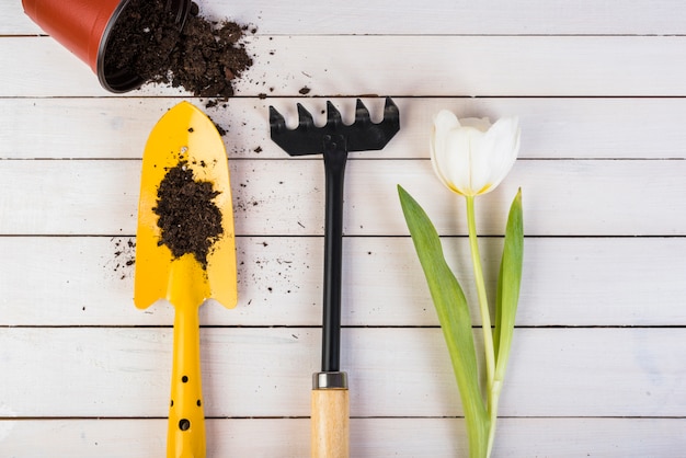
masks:
{"label": "yellow trowel handle with dark holes, below the blade", "polygon": [[176,305],[167,458],[205,458],[198,307]]}

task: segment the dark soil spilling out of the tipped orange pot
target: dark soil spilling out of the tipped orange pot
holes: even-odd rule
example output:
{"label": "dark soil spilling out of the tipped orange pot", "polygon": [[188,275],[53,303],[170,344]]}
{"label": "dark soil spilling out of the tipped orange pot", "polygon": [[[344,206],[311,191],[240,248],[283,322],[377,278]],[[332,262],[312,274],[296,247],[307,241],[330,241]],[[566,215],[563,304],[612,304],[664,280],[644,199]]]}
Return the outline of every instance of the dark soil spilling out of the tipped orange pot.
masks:
{"label": "dark soil spilling out of the tipped orange pot", "polygon": [[193,3],[179,31],[165,4],[165,0],[128,2],[107,42],[105,68],[129,68],[146,82],[183,88],[195,96],[233,95],[232,83],[252,65],[242,43],[249,27],[209,21]]}

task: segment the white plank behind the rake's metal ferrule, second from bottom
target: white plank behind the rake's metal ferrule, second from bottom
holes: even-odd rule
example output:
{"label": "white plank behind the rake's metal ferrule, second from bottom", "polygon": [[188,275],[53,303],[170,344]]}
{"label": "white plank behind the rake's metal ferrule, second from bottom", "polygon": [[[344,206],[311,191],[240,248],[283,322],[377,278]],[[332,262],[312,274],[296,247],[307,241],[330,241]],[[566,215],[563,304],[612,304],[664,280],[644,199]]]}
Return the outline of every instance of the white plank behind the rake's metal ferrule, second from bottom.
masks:
{"label": "white plank behind the rake's metal ferrule, second from bottom", "polygon": [[[164,417],[171,333],[171,328],[2,329],[7,373],[0,405],[11,412],[4,416]],[[312,328],[203,329],[205,414],[309,416],[320,337]],[[683,330],[672,328],[517,329],[501,415],[683,417],[681,342]],[[461,415],[437,328],[345,328],[341,367],[350,378],[351,417]]]}

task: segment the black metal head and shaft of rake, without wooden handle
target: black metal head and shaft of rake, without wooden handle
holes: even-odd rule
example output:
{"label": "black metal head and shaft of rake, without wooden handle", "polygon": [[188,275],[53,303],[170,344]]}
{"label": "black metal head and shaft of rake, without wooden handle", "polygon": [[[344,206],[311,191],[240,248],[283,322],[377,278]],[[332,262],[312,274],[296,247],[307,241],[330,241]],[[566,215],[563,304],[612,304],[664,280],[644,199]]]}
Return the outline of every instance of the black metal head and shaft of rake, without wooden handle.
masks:
{"label": "black metal head and shaft of rake, without wooden handle", "polygon": [[323,373],[340,371],[341,354],[341,273],[343,244],[343,191],[348,151],[382,149],[400,129],[398,107],[386,99],[384,119],[373,123],[369,111],[357,100],[355,122],[345,125],[341,113],[327,102],[327,124],[315,125],[312,115],[298,103],[298,127],[288,129],[286,121],[270,106],[272,140],[289,156],[323,154],[325,176],[324,285],[322,316]]}

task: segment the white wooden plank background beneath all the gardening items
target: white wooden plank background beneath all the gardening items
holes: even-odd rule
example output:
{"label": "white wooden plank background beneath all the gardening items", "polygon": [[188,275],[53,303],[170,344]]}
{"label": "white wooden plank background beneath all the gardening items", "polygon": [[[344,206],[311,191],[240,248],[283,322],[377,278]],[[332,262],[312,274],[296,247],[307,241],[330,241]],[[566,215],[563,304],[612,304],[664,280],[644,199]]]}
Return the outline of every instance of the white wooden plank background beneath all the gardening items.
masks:
{"label": "white wooden plank background beneath all the gardening items", "polygon": [[[240,263],[238,307],[201,311],[209,456],[309,455],[323,176],[319,159],[271,142],[267,107],[295,123],[297,102],[318,114],[325,98],[350,118],[367,95],[375,117],[371,94],[393,96],[402,127],[385,150],[353,154],[346,175],[353,457],[467,451],[396,197],[400,183],[425,206],[473,298],[464,204],[427,160],[444,107],[523,126],[522,159],[478,203],[492,289],[505,210],[524,190],[524,284],[494,457],[683,456],[683,1],[199,3],[258,26],[238,96],[207,111],[229,131]],[[203,102],[159,87],[108,94],[19,0],[3,7],[0,456],[160,456],[172,310],[133,306],[129,242],[150,128],[180,100]]]}

